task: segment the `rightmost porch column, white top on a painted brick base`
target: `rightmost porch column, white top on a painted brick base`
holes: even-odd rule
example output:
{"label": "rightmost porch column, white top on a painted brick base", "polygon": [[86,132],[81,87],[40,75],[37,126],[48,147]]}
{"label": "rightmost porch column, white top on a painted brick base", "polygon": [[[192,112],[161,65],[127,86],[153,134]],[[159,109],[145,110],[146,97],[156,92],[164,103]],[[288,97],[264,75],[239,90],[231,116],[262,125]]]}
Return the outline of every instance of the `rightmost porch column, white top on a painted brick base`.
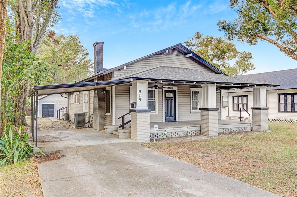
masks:
{"label": "rightmost porch column, white top on a painted brick base", "polygon": [[253,88],[254,106],[252,107],[253,131],[268,130],[268,107],[266,106],[266,87]]}

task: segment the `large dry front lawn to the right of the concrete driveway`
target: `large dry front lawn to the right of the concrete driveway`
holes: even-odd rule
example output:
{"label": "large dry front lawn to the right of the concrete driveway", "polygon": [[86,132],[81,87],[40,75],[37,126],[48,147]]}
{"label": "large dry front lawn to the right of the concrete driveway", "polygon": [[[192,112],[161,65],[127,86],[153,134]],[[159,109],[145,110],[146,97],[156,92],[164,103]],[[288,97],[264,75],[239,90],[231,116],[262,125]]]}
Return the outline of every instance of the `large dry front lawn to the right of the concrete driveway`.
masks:
{"label": "large dry front lawn to the right of the concrete driveway", "polygon": [[269,123],[271,133],[143,144],[181,161],[281,196],[297,196],[297,124]]}

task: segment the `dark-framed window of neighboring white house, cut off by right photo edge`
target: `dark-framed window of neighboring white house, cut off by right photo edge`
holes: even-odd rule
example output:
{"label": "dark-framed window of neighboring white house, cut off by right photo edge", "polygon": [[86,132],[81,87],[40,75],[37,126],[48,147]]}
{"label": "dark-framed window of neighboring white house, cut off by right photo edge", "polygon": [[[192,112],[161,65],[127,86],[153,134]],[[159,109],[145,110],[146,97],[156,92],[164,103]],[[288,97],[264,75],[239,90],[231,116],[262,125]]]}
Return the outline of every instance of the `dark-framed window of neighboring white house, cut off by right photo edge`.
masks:
{"label": "dark-framed window of neighboring white house, cut off by right photo edge", "polygon": [[279,112],[297,112],[297,93],[278,94]]}

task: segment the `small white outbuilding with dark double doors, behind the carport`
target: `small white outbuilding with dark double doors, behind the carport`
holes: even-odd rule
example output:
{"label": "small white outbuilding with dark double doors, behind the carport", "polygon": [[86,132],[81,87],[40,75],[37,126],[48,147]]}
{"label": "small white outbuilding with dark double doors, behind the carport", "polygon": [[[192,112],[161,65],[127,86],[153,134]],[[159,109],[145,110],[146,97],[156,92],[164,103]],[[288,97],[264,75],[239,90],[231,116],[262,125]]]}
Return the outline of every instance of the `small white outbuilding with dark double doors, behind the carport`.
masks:
{"label": "small white outbuilding with dark double doors, behind the carport", "polygon": [[[39,97],[38,117],[57,117],[57,110],[61,107],[67,107],[67,98],[65,97],[67,95],[64,94],[51,94]],[[64,109],[64,112],[66,112],[66,109]]]}

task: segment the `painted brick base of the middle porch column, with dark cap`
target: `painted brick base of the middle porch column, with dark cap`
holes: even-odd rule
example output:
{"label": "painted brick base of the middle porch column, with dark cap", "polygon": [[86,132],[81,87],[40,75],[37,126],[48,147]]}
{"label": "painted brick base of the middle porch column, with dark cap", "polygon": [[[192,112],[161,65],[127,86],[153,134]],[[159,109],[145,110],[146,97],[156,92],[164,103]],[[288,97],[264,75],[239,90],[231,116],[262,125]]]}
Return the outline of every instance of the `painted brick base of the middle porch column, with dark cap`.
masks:
{"label": "painted brick base of the middle porch column, with dark cap", "polygon": [[[217,109],[217,108],[213,108]],[[202,135],[217,136],[218,135],[218,111],[206,108],[201,110],[200,131]]]}

